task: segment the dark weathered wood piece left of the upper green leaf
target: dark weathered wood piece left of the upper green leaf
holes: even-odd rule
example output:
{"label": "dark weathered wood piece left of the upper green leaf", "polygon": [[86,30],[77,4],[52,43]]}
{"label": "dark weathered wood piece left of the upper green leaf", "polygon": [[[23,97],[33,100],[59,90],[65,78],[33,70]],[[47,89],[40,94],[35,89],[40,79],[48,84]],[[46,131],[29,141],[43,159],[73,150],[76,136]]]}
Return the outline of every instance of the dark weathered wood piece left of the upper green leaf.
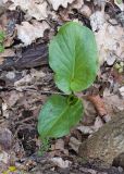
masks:
{"label": "dark weathered wood piece left of the upper green leaf", "polygon": [[48,64],[48,46],[40,44],[32,48],[27,48],[22,54],[4,58],[0,64],[0,70],[23,70]]}

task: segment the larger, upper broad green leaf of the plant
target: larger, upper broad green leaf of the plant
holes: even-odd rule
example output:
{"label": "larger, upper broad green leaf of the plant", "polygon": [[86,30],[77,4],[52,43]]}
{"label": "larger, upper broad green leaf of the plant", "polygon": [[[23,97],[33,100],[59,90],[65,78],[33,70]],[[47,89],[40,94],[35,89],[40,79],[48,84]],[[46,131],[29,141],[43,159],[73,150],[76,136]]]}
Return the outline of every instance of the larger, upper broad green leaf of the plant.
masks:
{"label": "larger, upper broad green leaf of the plant", "polygon": [[98,52],[92,32],[75,22],[63,25],[50,41],[49,64],[55,84],[72,94],[88,88],[96,78]]}

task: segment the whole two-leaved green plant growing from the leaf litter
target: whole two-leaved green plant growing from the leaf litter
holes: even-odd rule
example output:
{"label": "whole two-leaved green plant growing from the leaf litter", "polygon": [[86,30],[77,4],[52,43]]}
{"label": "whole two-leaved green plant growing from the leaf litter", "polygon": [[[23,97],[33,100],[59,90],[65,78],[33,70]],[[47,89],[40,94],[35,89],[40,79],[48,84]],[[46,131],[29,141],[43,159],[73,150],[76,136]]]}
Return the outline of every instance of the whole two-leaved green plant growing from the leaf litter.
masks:
{"label": "whole two-leaved green plant growing from the leaf litter", "polygon": [[41,139],[65,136],[77,124],[84,107],[75,92],[88,88],[98,71],[98,52],[90,29],[75,22],[63,25],[49,45],[49,64],[54,80],[66,97],[52,95],[38,117]]}

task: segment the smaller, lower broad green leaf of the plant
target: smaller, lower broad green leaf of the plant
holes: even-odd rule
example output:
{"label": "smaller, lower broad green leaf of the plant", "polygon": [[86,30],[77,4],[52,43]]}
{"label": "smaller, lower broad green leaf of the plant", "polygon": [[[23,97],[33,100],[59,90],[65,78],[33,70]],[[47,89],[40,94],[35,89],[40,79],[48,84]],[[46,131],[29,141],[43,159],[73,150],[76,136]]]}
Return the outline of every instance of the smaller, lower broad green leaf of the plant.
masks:
{"label": "smaller, lower broad green leaf of the plant", "polygon": [[58,138],[70,133],[83,115],[83,103],[76,97],[51,96],[40,111],[38,133],[44,138]]}

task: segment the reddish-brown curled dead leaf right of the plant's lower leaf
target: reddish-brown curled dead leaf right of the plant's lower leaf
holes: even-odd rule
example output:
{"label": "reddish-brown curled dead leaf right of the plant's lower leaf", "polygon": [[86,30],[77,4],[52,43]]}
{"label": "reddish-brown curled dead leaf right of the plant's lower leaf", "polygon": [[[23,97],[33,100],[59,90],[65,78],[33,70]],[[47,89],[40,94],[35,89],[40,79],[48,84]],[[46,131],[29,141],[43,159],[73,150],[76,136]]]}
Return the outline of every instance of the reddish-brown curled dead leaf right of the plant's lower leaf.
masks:
{"label": "reddish-brown curled dead leaf right of the plant's lower leaf", "polygon": [[94,103],[94,105],[95,105],[95,108],[96,108],[96,110],[97,110],[97,112],[99,113],[100,116],[107,115],[108,112],[106,110],[104,102],[99,95],[87,96],[87,99]]}

